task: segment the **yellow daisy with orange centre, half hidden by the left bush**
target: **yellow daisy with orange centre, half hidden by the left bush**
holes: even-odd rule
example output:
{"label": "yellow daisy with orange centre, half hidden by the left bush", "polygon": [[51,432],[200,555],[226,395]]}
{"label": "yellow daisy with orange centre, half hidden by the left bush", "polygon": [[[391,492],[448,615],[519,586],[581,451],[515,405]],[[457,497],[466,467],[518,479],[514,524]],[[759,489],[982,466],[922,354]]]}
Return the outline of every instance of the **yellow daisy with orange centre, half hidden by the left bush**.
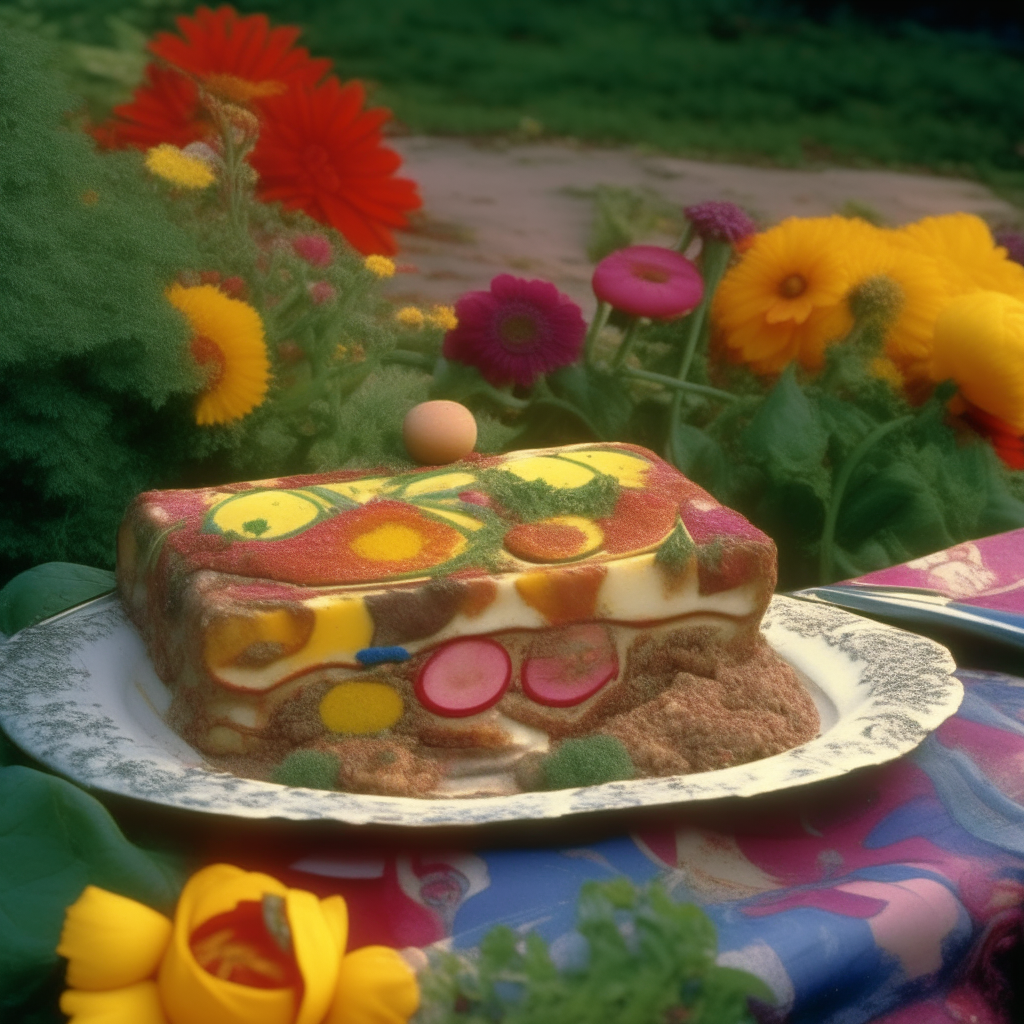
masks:
{"label": "yellow daisy with orange centre, half hidden by the left bush", "polygon": [[269,386],[270,364],[259,313],[213,285],[174,285],[167,298],[187,318],[193,356],[210,375],[196,406],[196,422],[200,426],[230,423],[261,404]]}

